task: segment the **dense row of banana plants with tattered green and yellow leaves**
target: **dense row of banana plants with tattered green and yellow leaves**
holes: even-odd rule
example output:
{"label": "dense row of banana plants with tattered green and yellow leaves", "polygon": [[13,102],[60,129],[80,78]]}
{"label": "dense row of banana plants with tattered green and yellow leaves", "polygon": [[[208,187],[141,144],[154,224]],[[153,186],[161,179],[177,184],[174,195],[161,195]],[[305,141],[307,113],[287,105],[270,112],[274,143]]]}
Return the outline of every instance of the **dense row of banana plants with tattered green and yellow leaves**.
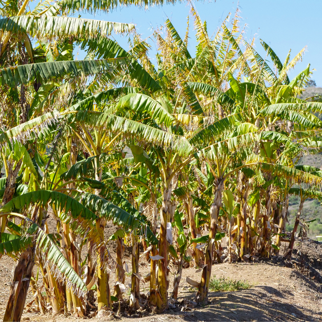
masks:
{"label": "dense row of banana plants with tattered green and yellow leaves", "polygon": [[[306,235],[303,203],[321,199],[322,172],[298,160],[321,151],[322,103],[298,98],[310,66],[288,77],[305,48],[281,61],[261,40],[263,58],[244,40],[238,11],[209,37],[190,5],[196,52],[187,49],[189,26],[182,39],[166,20],[166,33],[153,34],[156,65],[133,24],[66,15],[115,3],[2,8],[0,252],[16,259],[5,321],[20,321],[29,289],[41,313],[86,316],[121,300],[140,308],[140,244],[151,306],[163,312],[177,298],[186,263],[202,268],[191,283],[203,303],[214,263],[289,259],[296,234]],[[125,34],[130,49],[112,33]],[[84,60],[74,60],[76,46]],[[287,239],[290,195],[300,206]],[[117,227],[116,258],[107,221]]]}

